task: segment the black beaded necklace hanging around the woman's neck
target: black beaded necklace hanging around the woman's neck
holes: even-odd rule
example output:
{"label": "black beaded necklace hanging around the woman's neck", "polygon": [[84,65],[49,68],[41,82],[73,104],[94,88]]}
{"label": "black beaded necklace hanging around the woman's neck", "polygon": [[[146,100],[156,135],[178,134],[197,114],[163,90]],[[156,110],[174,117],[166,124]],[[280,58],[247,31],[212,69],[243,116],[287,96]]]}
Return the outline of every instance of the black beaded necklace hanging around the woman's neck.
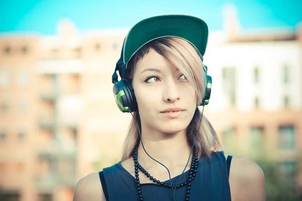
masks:
{"label": "black beaded necklace hanging around the woman's neck", "polygon": [[172,185],[171,184],[167,184],[167,183],[163,183],[160,180],[157,180],[156,178],[154,178],[153,176],[151,176],[138,162],[137,162],[137,150],[138,147],[135,147],[132,158],[134,161],[134,172],[135,172],[135,181],[136,181],[136,187],[137,187],[137,193],[138,193],[138,200],[143,200],[142,194],[141,194],[141,188],[140,188],[140,181],[139,181],[139,175],[138,175],[138,169],[144,173],[146,175],[146,177],[148,177],[150,180],[153,180],[153,182],[157,183],[160,186],[163,187],[167,187],[167,188],[180,188],[183,186],[187,186],[187,191],[186,191],[186,196],[185,196],[185,200],[189,200],[190,197],[190,192],[191,192],[191,182],[193,181],[194,177],[196,176],[197,173],[197,168],[198,168],[198,155],[196,153],[196,148],[194,147],[193,149],[193,157],[192,157],[192,161],[191,161],[191,166],[190,166],[190,170],[189,170],[189,176],[188,176],[188,180],[180,183],[178,185]]}

